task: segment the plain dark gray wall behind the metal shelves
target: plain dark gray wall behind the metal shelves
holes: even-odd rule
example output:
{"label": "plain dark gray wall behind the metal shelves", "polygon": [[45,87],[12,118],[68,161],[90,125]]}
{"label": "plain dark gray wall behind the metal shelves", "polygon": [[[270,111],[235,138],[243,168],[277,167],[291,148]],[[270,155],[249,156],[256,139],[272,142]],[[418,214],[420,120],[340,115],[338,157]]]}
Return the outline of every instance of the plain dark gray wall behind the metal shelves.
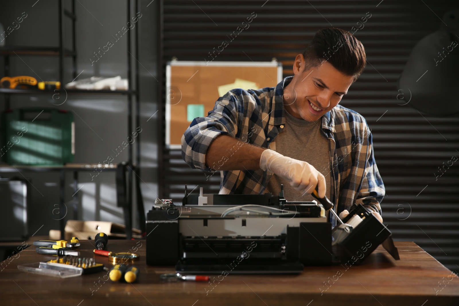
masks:
{"label": "plain dark gray wall behind the metal shelves", "polygon": [[[140,30],[140,126],[141,138],[141,188],[145,207],[151,207],[157,194],[157,115],[151,117],[157,110],[157,81],[156,77],[156,23],[154,2],[140,1],[139,11],[142,16],[136,23]],[[71,10],[71,1],[66,1],[66,7]],[[90,57],[99,47],[106,45],[108,40],[114,41],[112,35],[126,26],[127,4],[125,0],[75,1],[76,50],[78,79],[91,76],[127,77],[127,35],[114,42],[114,45],[94,65]],[[0,4],[0,22],[6,28],[22,12],[27,17],[6,38],[6,45],[28,46],[57,46],[58,45],[58,1],[21,1],[2,2]],[[132,11],[131,17],[135,16]],[[70,19],[66,18],[66,46],[71,47]],[[134,34],[134,31],[132,31]],[[133,35],[134,36],[134,35]],[[133,37],[134,38],[134,37]],[[133,55],[134,49],[131,51]],[[30,75],[38,80],[57,80],[57,56],[10,56],[10,75]],[[133,65],[135,65],[135,59]],[[0,75],[3,76],[3,56],[0,56]],[[70,57],[66,59],[66,82],[73,79]],[[20,107],[57,107],[73,111],[76,134],[75,162],[95,163],[106,160],[112,154],[112,149],[121,145],[128,136],[127,127],[127,97],[124,95],[68,95],[65,97],[52,95],[11,95],[11,108]],[[0,95],[0,108],[4,109],[4,97]],[[133,109],[134,111],[134,109]],[[151,119],[149,119],[151,117]],[[148,120],[148,122],[147,122]],[[133,120],[135,129],[135,120]],[[137,138],[139,139],[139,137]],[[135,143],[133,144],[135,156]],[[115,156],[113,163],[127,160],[127,150]],[[32,201],[29,205],[29,234],[40,228],[37,234],[48,234],[52,228],[58,228],[58,221],[53,215],[53,209],[59,204],[59,175],[57,173],[24,173],[30,178],[33,187],[30,192]],[[11,174],[2,174],[11,177]],[[72,174],[67,174],[66,200],[73,195]],[[83,220],[103,220],[124,223],[122,209],[116,206],[116,189],[114,172],[102,172],[94,180],[88,172],[79,173],[79,217]],[[70,209],[70,207],[69,207]],[[134,209],[135,211],[135,209]],[[56,211],[55,211],[56,212]],[[72,216],[70,210],[66,219]],[[138,228],[138,221],[134,223]]]}

